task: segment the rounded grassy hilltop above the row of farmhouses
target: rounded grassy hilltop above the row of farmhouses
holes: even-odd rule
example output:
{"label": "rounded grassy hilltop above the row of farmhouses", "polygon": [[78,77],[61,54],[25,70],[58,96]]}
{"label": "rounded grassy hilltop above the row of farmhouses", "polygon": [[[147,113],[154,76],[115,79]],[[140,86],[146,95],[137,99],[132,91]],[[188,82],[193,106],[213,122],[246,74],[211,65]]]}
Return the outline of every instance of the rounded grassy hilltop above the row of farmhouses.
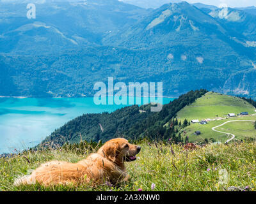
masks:
{"label": "rounded grassy hilltop above the row of farmhouses", "polygon": [[207,92],[195,103],[186,106],[177,114],[178,119],[214,119],[216,117],[227,117],[228,113],[248,112],[255,113],[255,108],[241,98],[228,96],[216,92]]}

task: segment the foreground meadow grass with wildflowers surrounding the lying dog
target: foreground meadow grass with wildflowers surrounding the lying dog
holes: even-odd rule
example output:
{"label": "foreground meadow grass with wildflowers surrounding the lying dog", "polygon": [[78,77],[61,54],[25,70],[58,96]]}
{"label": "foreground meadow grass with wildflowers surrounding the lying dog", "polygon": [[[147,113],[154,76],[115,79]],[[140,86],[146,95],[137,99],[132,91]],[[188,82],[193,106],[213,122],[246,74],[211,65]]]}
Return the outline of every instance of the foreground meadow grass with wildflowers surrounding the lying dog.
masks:
{"label": "foreground meadow grass with wildflowers surrounding the lying dog", "polygon": [[[13,186],[16,177],[30,173],[45,161],[58,159],[75,163],[90,153],[86,149],[59,148],[1,158],[0,191],[138,191],[139,188],[152,191],[152,183],[156,184],[154,191],[227,191],[230,186],[249,186],[250,190],[255,191],[255,142],[206,145],[188,152],[180,145],[172,145],[174,155],[169,144],[158,143],[156,147],[144,141],[140,145],[139,158],[126,164],[131,179],[118,187],[106,184],[97,187],[85,184],[47,188],[38,184]],[[219,170],[222,169],[228,172],[227,184],[219,183]]]}

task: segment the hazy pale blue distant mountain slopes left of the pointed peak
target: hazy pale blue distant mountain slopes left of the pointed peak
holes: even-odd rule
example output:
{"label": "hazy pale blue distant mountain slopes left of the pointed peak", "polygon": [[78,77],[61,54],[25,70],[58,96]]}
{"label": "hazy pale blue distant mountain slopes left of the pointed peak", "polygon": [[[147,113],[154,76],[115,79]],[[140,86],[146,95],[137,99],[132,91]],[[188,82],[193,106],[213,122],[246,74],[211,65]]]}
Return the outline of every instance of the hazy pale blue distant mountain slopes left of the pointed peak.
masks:
{"label": "hazy pale blue distant mountain slopes left of the pointed peak", "polygon": [[136,22],[147,10],[117,0],[42,1],[26,18],[29,1],[1,2],[0,52],[42,55],[101,45],[102,38]]}

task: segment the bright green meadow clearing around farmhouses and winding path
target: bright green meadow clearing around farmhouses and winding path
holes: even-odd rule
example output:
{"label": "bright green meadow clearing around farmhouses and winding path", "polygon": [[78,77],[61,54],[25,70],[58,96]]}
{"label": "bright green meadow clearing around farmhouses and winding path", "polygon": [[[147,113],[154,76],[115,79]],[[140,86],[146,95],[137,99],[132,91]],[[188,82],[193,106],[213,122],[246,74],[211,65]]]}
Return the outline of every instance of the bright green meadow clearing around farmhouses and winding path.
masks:
{"label": "bright green meadow clearing around farmhouses and winding path", "polygon": [[[241,112],[248,112],[247,116],[227,117],[228,113],[239,114]],[[243,138],[255,138],[256,130],[253,127],[253,122],[229,122],[220,128],[216,128],[218,131],[225,133],[218,133],[212,131],[212,128],[223,124],[229,120],[256,120],[255,107],[245,101],[244,99],[237,98],[235,96],[228,96],[219,94],[216,92],[207,92],[201,98],[196,99],[194,103],[188,105],[177,113],[178,120],[198,119],[212,119],[208,124],[192,124],[182,130],[185,134],[182,134],[185,138],[189,137],[189,142],[204,142],[205,139],[214,138],[216,142],[226,142],[230,135],[225,133],[232,133],[236,137],[234,140],[241,140]],[[201,135],[194,135],[195,131],[200,131]]]}

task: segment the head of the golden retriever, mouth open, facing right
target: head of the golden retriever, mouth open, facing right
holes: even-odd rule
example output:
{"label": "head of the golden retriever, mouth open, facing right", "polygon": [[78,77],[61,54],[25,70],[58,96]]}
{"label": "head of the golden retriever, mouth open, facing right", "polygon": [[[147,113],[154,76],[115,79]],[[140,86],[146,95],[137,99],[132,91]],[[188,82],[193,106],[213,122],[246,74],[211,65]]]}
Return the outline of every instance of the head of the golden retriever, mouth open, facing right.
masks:
{"label": "head of the golden retriever, mouth open, facing right", "polygon": [[124,138],[115,138],[100,147],[98,154],[114,163],[124,163],[124,161],[136,160],[136,154],[140,152],[140,149],[140,146],[132,145]]}

